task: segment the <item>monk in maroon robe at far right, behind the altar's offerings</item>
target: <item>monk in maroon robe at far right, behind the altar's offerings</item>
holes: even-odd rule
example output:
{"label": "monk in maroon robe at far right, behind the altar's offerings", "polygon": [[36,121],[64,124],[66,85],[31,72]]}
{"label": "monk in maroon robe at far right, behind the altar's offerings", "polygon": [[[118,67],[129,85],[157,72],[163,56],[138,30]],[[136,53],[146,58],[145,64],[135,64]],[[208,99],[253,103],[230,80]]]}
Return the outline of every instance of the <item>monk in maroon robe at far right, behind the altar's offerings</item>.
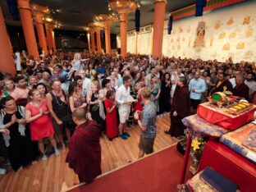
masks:
{"label": "monk in maroon robe at far right, behind the altar's offerings", "polygon": [[243,75],[236,75],[235,77],[235,88],[233,89],[233,95],[240,98],[249,99],[249,87],[245,85],[245,78]]}

